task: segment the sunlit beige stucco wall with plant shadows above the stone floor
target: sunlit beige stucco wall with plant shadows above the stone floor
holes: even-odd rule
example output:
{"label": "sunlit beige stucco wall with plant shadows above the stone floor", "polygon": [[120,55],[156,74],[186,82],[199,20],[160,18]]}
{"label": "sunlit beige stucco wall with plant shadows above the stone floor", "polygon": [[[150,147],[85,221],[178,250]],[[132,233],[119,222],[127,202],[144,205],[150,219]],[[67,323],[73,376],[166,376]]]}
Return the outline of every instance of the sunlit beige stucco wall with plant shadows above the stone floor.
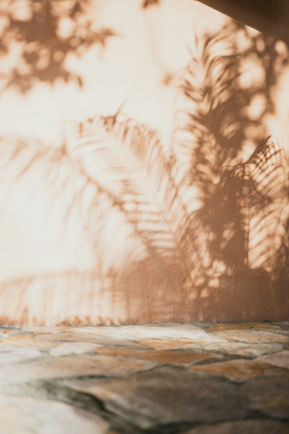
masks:
{"label": "sunlit beige stucco wall with plant shadows above the stone floor", "polygon": [[[288,252],[278,259],[288,240],[288,176],[279,152],[279,146],[289,151],[287,47],[268,39],[262,46],[260,37],[247,55],[258,33],[237,33],[230,19],[201,3],[163,0],[146,10],[140,3],[91,2],[88,14],[97,27],[119,36],[104,49],[96,44],[79,58],[67,57],[67,68],[83,78],[81,89],[61,80],[36,82],[25,94],[15,86],[5,89],[19,65],[19,47],[11,43],[9,55],[0,57],[1,322],[288,319],[289,280],[286,264],[282,271],[279,266]],[[220,33],[225,25],[231,27]],[[213,46],[215,59],[230,54],[231,44],[243,53],[235,87],[216,99],[222,112],[180,88],[194,55],[190,79],[204,90],[206,33],[224,35]],[[224,104],[229,96],[233,105]],[[97,114],[114,115],[120,106],[117,122],[124,123],[117,132],[117,124],[108,128]],[[235,122],[221,131],[232,110]],[[188,114],[205,123],[192,126]],[[152,129],[136,134],[131,121],[123,138],[128,118]],[[278,136],[278,161],[270,159],[265,178],[255,163],[246,170],[260,191],[268,191],[270,204],[250,205],[247,212],[247,196],[230,202],[224,189],[219,192],[221,174],[246,161],[267,135]],[[220,160],[217,146],[224,152],[231,147],[231,154]],[[279,162],[284,170],[273,171]],[[245,209],[250,214],[246,228],[240,224],[250,233],[245,241],[237,232],[230,238],[237,206],[243,217]],[[243,241],[248,251],[242,268]]]}

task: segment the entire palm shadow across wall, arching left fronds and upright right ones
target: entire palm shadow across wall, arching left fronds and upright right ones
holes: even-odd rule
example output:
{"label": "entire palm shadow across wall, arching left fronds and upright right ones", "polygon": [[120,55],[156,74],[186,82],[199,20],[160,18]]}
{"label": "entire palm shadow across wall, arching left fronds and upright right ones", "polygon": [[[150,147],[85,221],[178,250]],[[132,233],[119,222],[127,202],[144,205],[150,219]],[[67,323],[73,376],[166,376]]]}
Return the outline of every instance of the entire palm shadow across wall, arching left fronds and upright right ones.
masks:
{"label": "entire palm shadow across wall, arching left fronds and upright right ones", "polygon": [[[262,119],[244,111],[260,89],[238,82],[248,53],[231,43],[232,26],[240,30],[233,23],[197,40],[171,149],[123,113],[71,126],[54,149],[2,141],[3,191],[16,189],[20,207],[44,197],[37,218],[46,232],[57,220],[52,243],[68,256],[60,271],[51,263],[53,272],[2,283],[3,322],[286,315],[288,157],[279,139],[264,139]],[[252,125],[254,150],[244,159]],[[11,196],[2,197],[5,220],[13,216]],[[11,293],[17,296],[8,317]]]}

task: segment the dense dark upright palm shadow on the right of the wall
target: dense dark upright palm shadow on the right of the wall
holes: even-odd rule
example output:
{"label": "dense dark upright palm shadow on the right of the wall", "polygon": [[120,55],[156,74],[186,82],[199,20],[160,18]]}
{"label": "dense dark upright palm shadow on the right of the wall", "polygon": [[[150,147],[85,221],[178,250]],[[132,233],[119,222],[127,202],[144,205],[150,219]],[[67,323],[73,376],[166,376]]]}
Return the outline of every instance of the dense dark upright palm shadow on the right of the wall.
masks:
{"label": "dense dark upright palm shadow on the right of the wall", "polygon": [[[191,248],[195,257],[198,254],[194,304],[201,303],[200,315],[210,309],[210,318],[216,309],[215,318],[220,320],[227,319],[222,312],[224,300],[230,305],[231,318],[261,318],[262,311],[270,316],[270,309],[276,310],[282,302],[288,308],[288,293],[274,280],[276,251],[288,237],[288,157],[280,139],[261,141],[262,118],[252,120],[244,110],[260,89],[240,86],[240,62],[257,51],[257,43],[253,40],[246,53],[238,52],[234,39],[229,44],[230,29],[232,24],[223,34],[197,40],[197,51],[201,49],[183,79],[188,103],[177,117],[175,133],[183,179],[198,187],[201,202],[183,236],[187,250]],[[228,43],[216,56],[214,48],[226,39]],[[269,100],[270,86],[262,92]],[[272,109],[270,100],[267,107]],[[247,128],[251,132],[252,127],[255,137],[251,134],[250,141],[253,138],[255,151],[240,162]]]}

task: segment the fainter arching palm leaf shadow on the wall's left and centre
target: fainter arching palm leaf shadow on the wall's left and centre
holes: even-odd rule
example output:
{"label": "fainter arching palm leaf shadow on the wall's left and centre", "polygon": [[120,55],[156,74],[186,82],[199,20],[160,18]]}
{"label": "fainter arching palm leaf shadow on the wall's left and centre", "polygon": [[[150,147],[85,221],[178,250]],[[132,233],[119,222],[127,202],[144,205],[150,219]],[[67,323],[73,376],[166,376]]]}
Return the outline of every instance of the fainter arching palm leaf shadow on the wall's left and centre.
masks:
{"label": "fainter arching palm leaf shadow on the wall's left and centre", "polygon": [[[49,220],[55,204],[60,207],[59,227],[62,230],[55,236],[58,245],[68,242],[70,220],[77,216],[93,255],[92,270],[80,273],[85,281],[91,280],[92,289],[86,290],[90,296],[93,291],[98,297],[104,292],[110,293],[113,303],[125,296],[127,311],[131,311],[131,304],[137,304],[134,310],[139,312],[143,309],[139,302],[144,302],[141,294],[145,293],[151,300],[153,289],[163,301],[168,283],[177,289],[171,218],[177,211],[172,207],[167,213],[168,201],[164,200],[168,197],[172,201],[172,195],[177,193],[170,175],[170,158],[163,152],[156,132],[125,117],[116,122],[115,116],[97,116],[71,128],[66,143],[57,149],[45,149],[37,143],[30,146],[25,142],[7,142],[6,146],[2,143],[2,151],[5,157],[2,162],[11,169],[9,181],[14,188],[16,185],[20,189],[28,186],[29,190],[23,188],[28,200],[36,195],[39,186],[44,188],[47,200],[43,221]],[[123,235],[117,236],[116,227],[120,232],[124,228]],[[110,235],[108,231],[112,231],[115,238],[109,240],[109,246],[104,236],[104,233]],[[61,273],[58,278],[62,281],[60,292],[68,300],[69,294],[75,292],[72,287],[77,286],[79,276],[69,269],[65,274],[67,284]],[[46,299],[56,299],[54,289],[50,294],[45,289],[45,281],[57,279],[57,273],[54,275],[56,277],[48,279],[47,273],[38,273],[23,277],[23,280],[6,282],[2,298],[9,298],[11,285],[20,288],[24,282],[26,289],[19,289],[17,306],[25,306],[26,312],[31,311],[33,309],[27,306],[27,294],[35,293],[37,285],[46,294]],[[71,275],[75,276],[72,286]],[[94,287],[96,283],[101,288],[98,292]],[[58,283],[53,286],[59,290]],[[81,296],[85,299],[85,293]],[[45,301],[44,304],[49,315],[49,303]],[[55,302],[52,304],[55,309]],[[51,303],[50,306],[51,312]],[[91,309],[87,310],[93,316]],[[35,317],[31,312],[29,315]]]}

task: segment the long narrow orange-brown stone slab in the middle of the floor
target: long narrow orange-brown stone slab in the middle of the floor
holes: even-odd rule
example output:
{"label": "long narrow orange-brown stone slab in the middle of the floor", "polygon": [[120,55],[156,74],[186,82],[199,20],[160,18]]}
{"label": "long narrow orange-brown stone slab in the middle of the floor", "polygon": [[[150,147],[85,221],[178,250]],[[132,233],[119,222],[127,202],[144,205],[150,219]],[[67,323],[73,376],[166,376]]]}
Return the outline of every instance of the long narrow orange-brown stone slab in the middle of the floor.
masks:
{"label": "long narrow orange-brown stone slab in the middle of the floor", "polygon": [[124,357],[137,357],[146,360],[153,360],[169,365],[189,365],[191,363],[200,362],[208,358],[220,358],[221,355],[210,353],[193,353],[184,351],[150,351],[150,350],[129,350],[118,348],[100,348],[96,350],[98,353],[120,355]]}

